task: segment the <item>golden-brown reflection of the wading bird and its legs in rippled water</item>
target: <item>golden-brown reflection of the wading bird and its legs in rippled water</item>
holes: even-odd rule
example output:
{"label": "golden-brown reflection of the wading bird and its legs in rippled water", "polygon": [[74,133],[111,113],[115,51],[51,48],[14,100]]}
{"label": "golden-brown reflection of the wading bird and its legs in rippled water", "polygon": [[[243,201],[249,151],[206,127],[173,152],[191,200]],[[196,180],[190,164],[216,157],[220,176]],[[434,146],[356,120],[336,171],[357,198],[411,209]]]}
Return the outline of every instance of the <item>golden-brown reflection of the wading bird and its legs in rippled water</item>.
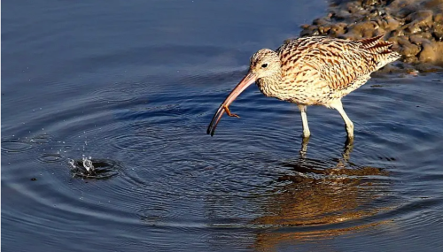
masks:
{"label": "golden-brown reflection of the wading bird and its legs in rippled water", "polygon": [[264,204],[264,216],[254,220],[255,224],[277,228],[291,226],[292,231],[259,233],[258,248],[376,225],[345,225],[385,209],[380,199],[389,187],[384,169],[350,162],[353,149],[354,142],[346,141],[341,157],[322,160],[308,158],[307,140],[302,142],[299,158],[282,164],[290,168],[291,175],[276,179],[279,186]]}

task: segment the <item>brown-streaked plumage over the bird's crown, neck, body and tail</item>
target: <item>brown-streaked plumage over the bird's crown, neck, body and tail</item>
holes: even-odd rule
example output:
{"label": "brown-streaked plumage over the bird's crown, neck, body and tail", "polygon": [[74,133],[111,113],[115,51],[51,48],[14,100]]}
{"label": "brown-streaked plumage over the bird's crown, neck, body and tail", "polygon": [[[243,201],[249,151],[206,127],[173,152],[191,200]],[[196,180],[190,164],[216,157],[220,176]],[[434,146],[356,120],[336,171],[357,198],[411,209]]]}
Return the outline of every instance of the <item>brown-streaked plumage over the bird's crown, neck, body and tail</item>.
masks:
{"label": "brown-streaked plumage over the bird's crown, neck, body and tail", "polygon": [[267,96],[302,105],[325,105],[351,93],[369,80],[370,73],[398,59],[381,36],[361,41],[306,37],[284,42],[276,51],[259,50],[251,65],[278,57],[275,76],[257,80]]}

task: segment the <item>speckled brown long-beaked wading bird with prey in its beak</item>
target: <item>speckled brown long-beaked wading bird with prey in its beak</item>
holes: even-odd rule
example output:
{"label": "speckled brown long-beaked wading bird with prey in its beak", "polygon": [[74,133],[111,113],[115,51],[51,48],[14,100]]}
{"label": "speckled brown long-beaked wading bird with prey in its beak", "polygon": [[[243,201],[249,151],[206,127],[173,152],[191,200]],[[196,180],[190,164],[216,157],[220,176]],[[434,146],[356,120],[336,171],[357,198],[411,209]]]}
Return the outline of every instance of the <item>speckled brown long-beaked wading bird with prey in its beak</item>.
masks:
{"label": "speckled brown long-beaked wading bird with prey in its beak", "polygon": [[239,118],[229,105],[255,82],[263,95],[297,104],[303,138],[311,134],[307,106],[323,105],[338,111],[348,140],[354,140],[354,124],[341,99],[365,84],[371,73],[400,58],[383,36],[361,40],[308,36],[286,40],[276,50],[258,50],[250,59],[248,73],[221,103],[206,133],[214,136],[225,112]]}

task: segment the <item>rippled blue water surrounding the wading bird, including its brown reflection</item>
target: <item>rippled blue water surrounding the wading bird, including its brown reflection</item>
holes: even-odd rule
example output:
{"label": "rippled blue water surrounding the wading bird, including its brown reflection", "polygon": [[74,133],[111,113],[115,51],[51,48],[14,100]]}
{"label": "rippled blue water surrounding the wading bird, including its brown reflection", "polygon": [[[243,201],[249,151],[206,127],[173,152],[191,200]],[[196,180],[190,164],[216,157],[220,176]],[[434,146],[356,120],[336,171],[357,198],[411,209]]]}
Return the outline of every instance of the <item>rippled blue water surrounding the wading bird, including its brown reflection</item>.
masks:
{"label": "rippled blue water surrounding the wading bird, including its brown reflection", "polygon": [[256,87],[206,135],[253,52],[323,1],[2,7],[4,251],[443,249],[442,73],[348,95],[353,145],[321,107],[303,145],[296,106]]}

